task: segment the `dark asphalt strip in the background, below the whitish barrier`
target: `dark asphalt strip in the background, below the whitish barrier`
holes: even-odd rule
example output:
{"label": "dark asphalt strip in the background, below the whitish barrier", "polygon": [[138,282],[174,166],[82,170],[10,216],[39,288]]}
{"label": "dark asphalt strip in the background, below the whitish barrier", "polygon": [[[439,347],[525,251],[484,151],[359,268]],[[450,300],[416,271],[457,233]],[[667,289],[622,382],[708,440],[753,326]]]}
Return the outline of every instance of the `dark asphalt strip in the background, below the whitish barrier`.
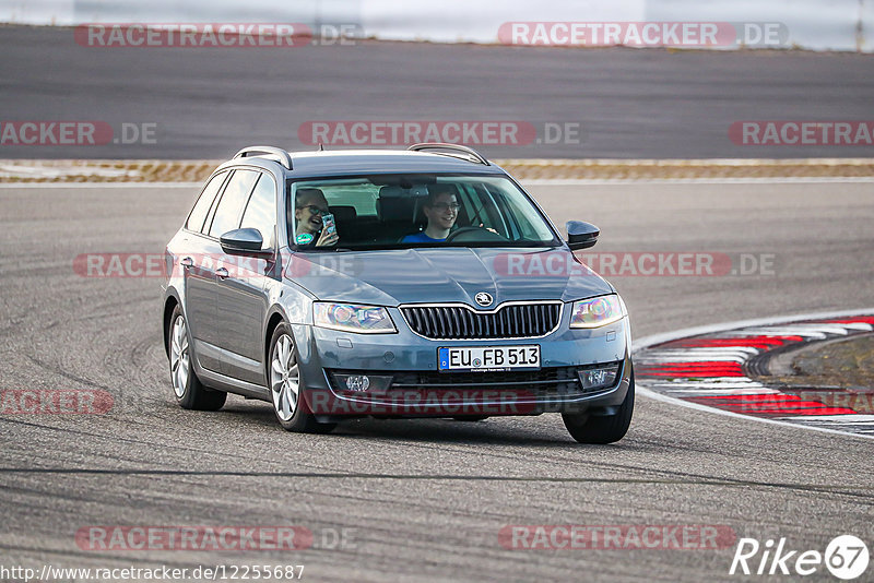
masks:
{"label": "dark asphalt strip in the background, below the whitish barrier", "polygon": [[[0,121],[103,121],[120,140],[122,123],[154,124],[153,143],[8,142],[0,158],[225,158],[250,143],[315,148],[298,129],[317,120],[492,120],[538,130],[541,143],[493,144],[485,148],[493,158],[874,154],[871,143],[744,146],[729,138],[736,121],[870,120],[867,55],[409,43],[99,48],[78,45],[72,28],[9,26],[0,27]],[[580,138],[552,143],[547,122],[578,123]]]}

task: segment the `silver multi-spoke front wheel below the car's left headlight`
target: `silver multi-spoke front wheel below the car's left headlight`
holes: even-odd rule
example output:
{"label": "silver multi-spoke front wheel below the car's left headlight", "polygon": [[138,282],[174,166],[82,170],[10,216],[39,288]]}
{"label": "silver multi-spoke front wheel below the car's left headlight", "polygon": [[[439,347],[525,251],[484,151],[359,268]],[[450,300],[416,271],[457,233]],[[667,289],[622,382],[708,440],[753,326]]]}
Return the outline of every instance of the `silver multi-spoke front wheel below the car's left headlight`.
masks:
{"label": "silver multi-spoke front wheel below the car's left headlight", "polygon": [[328,433],[336,424],[321,424],[307,412],[304,386],[300,384],[300,369],[297,362],[297,348],[292,331],[283,322],[273,331],[270,338],[270,396],[276,420],[286,431],[298,433]]}

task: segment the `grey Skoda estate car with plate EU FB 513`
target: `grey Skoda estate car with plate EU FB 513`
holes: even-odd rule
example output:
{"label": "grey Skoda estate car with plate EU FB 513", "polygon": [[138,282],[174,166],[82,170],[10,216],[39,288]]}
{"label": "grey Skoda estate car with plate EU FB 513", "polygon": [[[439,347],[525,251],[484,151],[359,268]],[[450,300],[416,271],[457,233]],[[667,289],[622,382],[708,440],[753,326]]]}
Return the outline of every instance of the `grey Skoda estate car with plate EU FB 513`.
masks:
{"label": "grey Skoda estate car with plate EU FB 513", "polygon": [[227,393],[287,430],[359,417],[560,413],[579,442],[626,433],[625,305],[500,167],[452,144],[250,146],[206,180],[166,248],[163,326],[179,405]]}

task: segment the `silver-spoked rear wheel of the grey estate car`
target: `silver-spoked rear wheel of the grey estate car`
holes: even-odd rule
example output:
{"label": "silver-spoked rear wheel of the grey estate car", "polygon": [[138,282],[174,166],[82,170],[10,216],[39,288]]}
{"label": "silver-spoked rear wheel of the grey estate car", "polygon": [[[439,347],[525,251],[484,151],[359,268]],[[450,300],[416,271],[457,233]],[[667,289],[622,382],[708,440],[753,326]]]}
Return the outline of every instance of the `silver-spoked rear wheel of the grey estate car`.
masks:
{"label": "silver-spoked rear wheel of the grey estate car", "polygon": [[188,335],[182,309],[173,310],[167,330],[167,346],[170,361],[170,381],[176,402],[186,409],[218,411],[225,404],[227,393],[203,386],[194,372],[191,357],[191,338]]}

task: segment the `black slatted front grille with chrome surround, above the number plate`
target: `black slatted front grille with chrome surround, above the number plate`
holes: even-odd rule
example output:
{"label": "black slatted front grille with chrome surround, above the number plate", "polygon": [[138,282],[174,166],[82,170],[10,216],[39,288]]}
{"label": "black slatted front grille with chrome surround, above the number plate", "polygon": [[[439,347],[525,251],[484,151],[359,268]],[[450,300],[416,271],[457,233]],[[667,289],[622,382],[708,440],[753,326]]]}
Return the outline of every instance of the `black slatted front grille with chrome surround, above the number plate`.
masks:
{"label": "black slatted front grille with chrome surround, above the number plate", "polygon": [[401,313],[413,332],[426,338],[530,338],[558,326],[562,304],[509,304],[495,312],[466,306],[413,306],[401,308]]}

